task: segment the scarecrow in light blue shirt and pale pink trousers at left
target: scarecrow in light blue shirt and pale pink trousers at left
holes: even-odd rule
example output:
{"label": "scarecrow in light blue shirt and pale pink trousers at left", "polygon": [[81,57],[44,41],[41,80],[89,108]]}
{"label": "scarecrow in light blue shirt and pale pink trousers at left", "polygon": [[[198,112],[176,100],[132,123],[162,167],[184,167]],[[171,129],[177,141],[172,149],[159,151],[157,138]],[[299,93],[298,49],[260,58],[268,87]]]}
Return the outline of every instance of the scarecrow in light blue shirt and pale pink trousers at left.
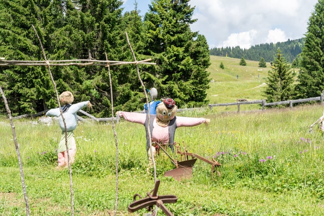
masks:
{"label": "scarecrow in light blue shirt and pale pink trousers at left", "polygon": [[61,140],[58,144],[58,149],[57,149],[57,161],[58,161],[57,168],[68,166],[68,157],[67,157],[67,150],[66,150],[66,145],[65,145],[65,127],[64,127],[63,118],[61,117],[60,109],[62,110],[65,124],[66,124],[67,145],[69,148],[70,162],[74,163],[75,154],[76,154],[76,143],[75,143],[73,131],[75,130],[75,128],[77,126],[76,113],[80,109],[82,109],[86,106],[88,108],[92,107],[92,104],[90,103],[90,101],[83,101],[80,103],[72,104],[74,97],[73,97],[73,94],[69,91],[63,92],[59,96],[59,99],[60,99],[61,105],[64,105],[64,106],[62,106],[61,108],[50,109],[46,112],[46,116],[59,117],[58,123],[62,130]]}

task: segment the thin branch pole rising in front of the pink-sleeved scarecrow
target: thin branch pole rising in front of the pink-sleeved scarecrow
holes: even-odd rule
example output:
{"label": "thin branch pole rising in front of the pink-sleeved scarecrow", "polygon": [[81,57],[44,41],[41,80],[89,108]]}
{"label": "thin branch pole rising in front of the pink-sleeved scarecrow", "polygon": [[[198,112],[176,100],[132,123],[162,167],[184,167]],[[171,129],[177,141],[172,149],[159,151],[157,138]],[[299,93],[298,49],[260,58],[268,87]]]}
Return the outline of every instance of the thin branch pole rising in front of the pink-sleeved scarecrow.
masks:
{"label": "thin branch pole rising in front of the pink-sleeved scarecrow", "polygon": [[[135,56],[135,53],[133,51],[132,45],[130,43],[130,40],[128,38],[127,32],[125,32],[125,34],[126,34],[127,44],[128,44],[128,46],[130,47],[130,49],[132,51],[133,58],[134,58],[135,62],[137,62],[136,56]],[[143,83],[143,81],[141,79],[141,75],[140,75],[140,70],[139,70],[139,65],[138,64],[136,64],[136,70],[137,70],[137,75],[139,77],[139,80],[141,82],[141,85],[143,87],[143,91],[144,91],[145,99],[146,99],[146,104],[147,104],[147,107],[148,107],[148,114],[147,114],[148,125],[147,125],[147,131],[148,131],[148,134],[149,134],[150,148],[151,148],[151,146],[152,146],[152,136],[151,136],[151,131],[150,131],[150,106],[149,106],[149,98],[148,98],[148,94],[146,92],[146,88],[144,86],[144,83]],[[152,161],[153,161],[153,167],[154,167],[154,182],[156,183],[157,182],[157,167],[156,167],[156,164],[155,164],[155,158],[153,156],[153,152],[152,151],[150,151],[150,152],[151,152]]]}

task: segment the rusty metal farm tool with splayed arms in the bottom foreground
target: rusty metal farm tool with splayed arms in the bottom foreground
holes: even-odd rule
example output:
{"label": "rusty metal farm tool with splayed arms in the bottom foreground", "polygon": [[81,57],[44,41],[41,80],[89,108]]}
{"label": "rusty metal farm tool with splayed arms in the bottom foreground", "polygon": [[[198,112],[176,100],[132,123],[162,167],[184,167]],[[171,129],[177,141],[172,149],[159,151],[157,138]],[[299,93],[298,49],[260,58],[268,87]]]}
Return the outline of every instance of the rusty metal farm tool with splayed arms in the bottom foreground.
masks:
{"label": "rusty metal farm tool with splayed arms in the bottom foreground", "polygon": [[[147,193],[148,197],[143,198],[141,200],[136,200],[136,197],[141,196],[139,194],[135,194],[133,196],[133,203],[128,206],[128,212],[133,213],[140,209],[147,208],[148,212],[153,212],[153,206],[156,205],[160,209],[162,209],[163,213],[166,216],[173,216],[173,214],[164,206],[165,203],[176,203],[177,197],[174,195],[163,195],[157,196],[158,190],[160,186],[160,180],[157,180],[153,189],[153,194]],[[156,213],[153,213],[152,216],[156,216]]]}

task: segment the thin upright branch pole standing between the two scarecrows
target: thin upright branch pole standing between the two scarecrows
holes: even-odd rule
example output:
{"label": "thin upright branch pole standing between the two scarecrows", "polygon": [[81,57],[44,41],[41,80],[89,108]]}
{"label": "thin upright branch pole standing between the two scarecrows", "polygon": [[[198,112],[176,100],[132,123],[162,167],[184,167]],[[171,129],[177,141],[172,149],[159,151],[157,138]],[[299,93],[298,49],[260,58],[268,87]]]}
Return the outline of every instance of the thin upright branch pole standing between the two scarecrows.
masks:
{"label": "thin upright branch pole standing between the two scarecrows", "polygon": [[[108,73],[109,73],[109,84],[110,84],[110,97],[111,97],[111,117],[114,119],[114,99],[113,99],[113,85],[111,82],[111,73],[110,73],[110,65],[107,58],[107,53],[105,52],[106,60],[107,60],[107,66],[108,67]],[[118,208],[118,140],[117,140],[117,133],[115,130],[115,123],[112,120],[112,126],[113,126],[113,132],[115,137],[115,143],[116,143],[116,197],[115,197],[115,216],[117,216],[117,208]]]}

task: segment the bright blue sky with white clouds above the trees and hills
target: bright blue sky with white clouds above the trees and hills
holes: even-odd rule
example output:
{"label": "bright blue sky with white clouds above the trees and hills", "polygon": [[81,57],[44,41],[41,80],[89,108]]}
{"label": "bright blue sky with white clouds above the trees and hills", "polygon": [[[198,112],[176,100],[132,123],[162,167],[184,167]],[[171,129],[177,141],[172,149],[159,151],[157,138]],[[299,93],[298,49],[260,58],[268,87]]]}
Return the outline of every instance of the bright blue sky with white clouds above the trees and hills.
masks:
{"label": "bright blue sky with white clouds above the trees and hills", "polygon": [[[124,0],[124,11],[141,14],[151,0]],[[209,48],[276,43],[304,37],[307,23],[318,0],[190,0],[195,6],[192,31],[203,34]]]}

